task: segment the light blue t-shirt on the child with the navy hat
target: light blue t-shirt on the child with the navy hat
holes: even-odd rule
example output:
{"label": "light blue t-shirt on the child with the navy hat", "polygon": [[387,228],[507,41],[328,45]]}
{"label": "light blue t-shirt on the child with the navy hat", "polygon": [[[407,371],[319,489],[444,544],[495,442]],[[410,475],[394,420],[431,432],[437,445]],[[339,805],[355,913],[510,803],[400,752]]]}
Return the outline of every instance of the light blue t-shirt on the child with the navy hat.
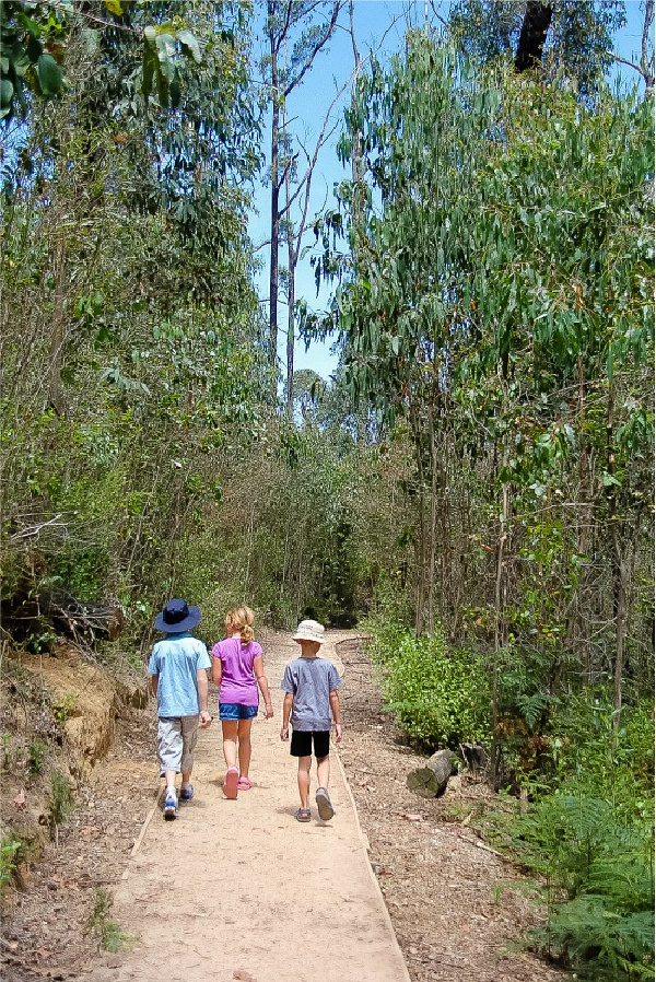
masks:
{"label": "light blue t-shirt on the child with the navy hat", "polygon": [[157,641],[148,663],[148,674],[159,676],[157,716],[198,715],[196,673],[211,665],[202,641],[187,632],[167,634]]}

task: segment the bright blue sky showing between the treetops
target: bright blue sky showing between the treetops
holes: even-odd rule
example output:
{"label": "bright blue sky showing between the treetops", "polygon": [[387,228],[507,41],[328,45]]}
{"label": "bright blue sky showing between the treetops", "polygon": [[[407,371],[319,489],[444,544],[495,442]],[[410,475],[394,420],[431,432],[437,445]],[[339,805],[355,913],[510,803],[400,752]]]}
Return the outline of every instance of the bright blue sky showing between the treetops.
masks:
{"label": "bright blue sky showing between the treetops", "polygon": [[[442,2],[434,5],[438,9],[441,8],[441,13],[446,16],[449,0],[442,0]],[[377,48],[379,48],[379,58],[389,57],[394,51],[398,51],[402,47],[407,30],[408,11],[414,23],[422,24],[425,11],[424,0],[417,0],[413,3],[403,3],[401,0],[396,0],[396,2],[395,0],[393,2],[355,0],[354,23],[361,57],[365,58],[371,50]],[[616,51],[622,58],[637,60],[640,58],[643,24],[643,10],[640,0],[629,0],[626,2],[626,16],[628,23],[625,27],[618,32],[616,36]],[[342,23],[348,26],[348,17],[342,15]],[[288,104],[289,117],[290,119],[295,119],[294,129],[303,138],[306,147],[314,149],[328,107],[338,90],[349,79],[352,70],[353,51],[351,37],[347,30],[339,27],[330,42],[328,50],[319,54],[313,70],[306,75],[302,87],[292,94]],[[619,67],[619,73],[629,84],[633,84],[640,79],[637,72],[631,69],[623,69],[621,66]],[[315,168],[313,195],[308,211],[311,222],[318,211],[333,203],[335,185],[349,176],[348,172],[339,163],[335,151],[347,98],[348,90],[332,110],[331,118],[339,126],[329,143],[324,147]],[[256,244],[263,242],[268,237],[268,188],[265,186],[258,187],[256,206],[259,209],[259,214],[254,213],[250,221],[250,234]],[[306,244],[313,243],[314,235],[311,231],[307,233]],[[261,274],[258,277],[257,285],[259,296],[266,302],[268,299],[268,252],[266,248],[259,253],[259,257],[263,262],[263,267]],[[284,250],[281,250],[280,261],[284,264]],[[305,297],[311,307],[319,311],[325,309],[329,303],[330,292],[327,288],[321,288],[317,297],[314,271],[309,265],[309,258],[300,262],[296,278],[296,296]],[[279,329],[281,331],[279,354],[281,364],[284,365],[286,305],[282,303],[279,304]],[[308,352],[305,352],[304,344],[296,342],[294,361],[295,370],[314,369],[325,378],[330,375],[337,365],[337,356],[330,352],[330,342],[324,344],[313,343]]]}

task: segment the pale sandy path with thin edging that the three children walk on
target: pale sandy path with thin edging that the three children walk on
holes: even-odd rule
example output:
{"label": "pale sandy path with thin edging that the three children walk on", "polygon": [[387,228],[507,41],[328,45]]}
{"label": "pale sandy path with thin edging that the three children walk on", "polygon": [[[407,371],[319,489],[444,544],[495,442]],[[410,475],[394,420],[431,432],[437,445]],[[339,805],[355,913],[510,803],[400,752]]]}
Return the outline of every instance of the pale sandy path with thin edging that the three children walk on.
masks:
{"label": "pale sandy path with thin edging that the three children walk on", "polygon": [[[332,632],[336,643],[348,633]],[[199,739],[192,802],[164,822],[153,809],[115,891],[112,916],[138,936],[131,954],[87,980],[154,982],[407,982],[406,963],[366,854],[335,749],[324,823],[294,819],[295,761],[280,740],[280,679],[298,651],[265,646],[276,716],[253,728],[255,787],[221,791],[215,720]],[[324,654],[339,666],[332,644]],[[312,803],[316,790],[313,767]]]}

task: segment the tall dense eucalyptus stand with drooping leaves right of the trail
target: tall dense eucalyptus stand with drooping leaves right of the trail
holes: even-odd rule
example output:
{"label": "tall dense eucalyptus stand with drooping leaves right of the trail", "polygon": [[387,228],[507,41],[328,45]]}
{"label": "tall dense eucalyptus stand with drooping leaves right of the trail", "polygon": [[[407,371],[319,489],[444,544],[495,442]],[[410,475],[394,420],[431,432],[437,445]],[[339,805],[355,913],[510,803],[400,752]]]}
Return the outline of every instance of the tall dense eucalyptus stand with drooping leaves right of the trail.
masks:
{"label": "tall dense eucalyptus stand with drooping leaves right of the trail", "polygon": [[[618,704],[628,557],[644,563],[648,536],[652,127],[648,104],[600,92],[585,109],[558,85],[477,75],[418,35],[361,79],[341,151],[361,141],[364,203],[344,183],[320,229],[351,396],[412,434],[417,629],[435,621],[440,570],[452,628],[488,624],[497,651],[541,645],[554,677],[587,648],[598,678],[598,617]],[[646,630],[643,618],[642,645]]]}

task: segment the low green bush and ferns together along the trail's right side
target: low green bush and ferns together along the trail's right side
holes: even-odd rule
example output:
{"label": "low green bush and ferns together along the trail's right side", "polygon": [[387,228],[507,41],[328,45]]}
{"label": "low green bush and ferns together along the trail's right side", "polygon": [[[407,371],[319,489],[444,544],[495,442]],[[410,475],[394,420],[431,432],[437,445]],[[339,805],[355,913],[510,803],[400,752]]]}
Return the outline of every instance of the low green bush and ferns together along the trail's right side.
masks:
{"label": "low green bush and ferns together along the trail's right side", "polygon": [[[388,708],[415,743],[489,746],[484,658],[450,650],[441,630],[417,639],[395,617],[361,627]],[[652,705],[618,714],[611,691],[576,691],[570,679],[559,688],[511,654],[497,735],[512,780],[471,825],[523,867],[523,888],[542,905],[543,926],[527,944],[579,979],[654,980]]]}

